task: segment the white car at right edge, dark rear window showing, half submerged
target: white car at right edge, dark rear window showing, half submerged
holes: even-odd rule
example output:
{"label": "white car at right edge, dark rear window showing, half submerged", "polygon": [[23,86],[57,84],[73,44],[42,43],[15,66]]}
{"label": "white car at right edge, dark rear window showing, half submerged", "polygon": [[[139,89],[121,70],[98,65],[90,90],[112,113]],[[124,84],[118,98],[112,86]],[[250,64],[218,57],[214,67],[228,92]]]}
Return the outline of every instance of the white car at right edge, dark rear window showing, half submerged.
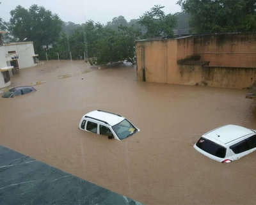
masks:
{"label": "white car at right edge, dark rear window showing, half submerged", "polygon": [[256,150],[256,130],[221,126],[202,135],[194,148],[212,160],[229,163]]}

